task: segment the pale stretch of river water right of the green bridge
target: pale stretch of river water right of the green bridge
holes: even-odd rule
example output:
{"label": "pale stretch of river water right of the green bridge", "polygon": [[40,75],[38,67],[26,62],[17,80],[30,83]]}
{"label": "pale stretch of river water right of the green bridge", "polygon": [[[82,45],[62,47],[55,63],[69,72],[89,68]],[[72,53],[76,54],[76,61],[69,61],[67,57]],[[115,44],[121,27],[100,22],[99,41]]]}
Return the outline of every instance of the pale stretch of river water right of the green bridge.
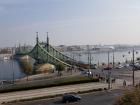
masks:
{"label": "pale stretch of river water right of the green bridge", "polygon": [[[136,58],[140,58],[140,50],[136,50],[134,53],[135,53],[134,54],[135,60],[136,60]],[[88,63],[88,54],[87,53],[74,51],[71,53],[65,52],[64,54],[76,59],[77,61],[83,61],[85,63]],[[131,50],[115,51],[114,52],[114,62],[115,63],[125,62],[126,60],[131,61],[132,56],[133,55],[132,55]],[[109,62],[113,62],[113,52],[109,52]],[[102,63],[108,63],[108,52],[92,52],[91,51],[91,63],[92,64],[99,63],[100,65]]]}

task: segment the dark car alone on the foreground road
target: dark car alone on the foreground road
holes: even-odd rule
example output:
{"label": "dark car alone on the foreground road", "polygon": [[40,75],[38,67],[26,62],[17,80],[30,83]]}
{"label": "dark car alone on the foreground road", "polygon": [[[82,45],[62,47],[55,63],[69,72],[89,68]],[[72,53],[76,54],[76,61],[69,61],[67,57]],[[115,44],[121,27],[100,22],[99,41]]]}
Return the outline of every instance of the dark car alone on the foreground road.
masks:
{"label": "dark car alone on the foreground road", "polygon": [[77,94],[69,94],[65,93],[62,97],[62,102],[68,103],[68,102],[75,102],[80,101],[82,98]]}

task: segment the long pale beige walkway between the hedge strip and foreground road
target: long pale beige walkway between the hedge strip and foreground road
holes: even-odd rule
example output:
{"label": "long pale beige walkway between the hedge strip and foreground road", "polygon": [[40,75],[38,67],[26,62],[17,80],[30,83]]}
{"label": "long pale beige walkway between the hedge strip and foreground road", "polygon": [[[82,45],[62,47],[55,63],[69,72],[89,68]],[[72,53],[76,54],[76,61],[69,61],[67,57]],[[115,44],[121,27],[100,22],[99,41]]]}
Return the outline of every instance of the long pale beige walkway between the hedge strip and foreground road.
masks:
{"label": "long pale beige walkway between the hedge strip and foreground road", "polygon": [[[116,83],[112,84],[112,88],[120,88],[122,86],[123,80],[117,80]],[[129,85],[129,84],[128,84]],[[64,93],[69,92],[84,92],[94,89],[104,89],[108,88],[107,83],[84,83],[84,84],[76,84],[76,85],[66,85],[66,86],[57,86],[57,87],[49,87],[42,89],[34,89],[34,90],[26,90],[26,91],[17,91],[17,92],[9,92],[9,93],[1,93],[0,94],[0,104],[14,101],[22,101],[22,100],[31,100],[37,98],[45,98],[45,97],[54,97],[57,95],[62,95]]]}

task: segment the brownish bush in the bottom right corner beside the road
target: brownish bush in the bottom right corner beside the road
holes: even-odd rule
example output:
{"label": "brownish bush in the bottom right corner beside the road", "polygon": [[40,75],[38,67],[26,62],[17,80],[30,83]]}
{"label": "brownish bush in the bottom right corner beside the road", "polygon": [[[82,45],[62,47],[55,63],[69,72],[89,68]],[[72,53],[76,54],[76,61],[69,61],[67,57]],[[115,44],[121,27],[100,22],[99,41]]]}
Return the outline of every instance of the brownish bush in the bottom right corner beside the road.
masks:
{"label": "brownish bush in the bottom right corner beside the road", "polygon": [[114,105],[140,105],[140,88],[127,90],[119,97]]}

